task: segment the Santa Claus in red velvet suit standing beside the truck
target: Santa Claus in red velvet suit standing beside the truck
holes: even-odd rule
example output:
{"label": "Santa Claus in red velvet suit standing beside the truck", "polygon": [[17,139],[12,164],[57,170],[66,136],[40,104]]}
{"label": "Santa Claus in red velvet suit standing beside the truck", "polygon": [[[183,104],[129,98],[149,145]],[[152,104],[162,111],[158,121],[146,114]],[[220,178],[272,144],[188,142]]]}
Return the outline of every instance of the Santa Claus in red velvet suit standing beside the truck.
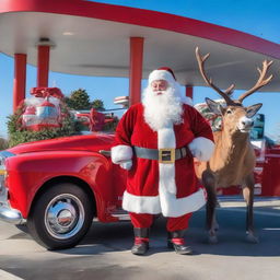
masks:
{"label": "Santa Claus in red velvet suit standing beside the truck", "polygon": [[142,102],[120,119],[112,149],[112,161],[128,170],[122,208],[135,229],[135,255],[149,249],[149,230],[160,213],[167,217],[167,246],[178,254],[192,253],[184,233],[191,212],[206,203],[194,156],[208,161],[213,148],[210,126],[180,95],[173,71],[152,71]]}

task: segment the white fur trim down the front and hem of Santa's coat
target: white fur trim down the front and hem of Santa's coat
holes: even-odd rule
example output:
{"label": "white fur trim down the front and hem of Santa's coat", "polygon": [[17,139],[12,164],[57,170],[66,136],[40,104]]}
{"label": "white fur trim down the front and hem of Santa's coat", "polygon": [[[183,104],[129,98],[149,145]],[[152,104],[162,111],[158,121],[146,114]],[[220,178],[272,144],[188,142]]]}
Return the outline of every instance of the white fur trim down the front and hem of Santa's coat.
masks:
{"label": "white fur trim down the front and hem of Santa's coat", "polygon": [[[173,125],[158,130],[158,147],[159,149],[176,147]],[[206,203],[203,189],[199,189],[188,197],[176,198],[175,164],[159,163],[159,171],[160,196],[136,196],[125,191],[122,199],[125,210],[135,213],[162,213],[164,217],[180,217],[197,211]]]}

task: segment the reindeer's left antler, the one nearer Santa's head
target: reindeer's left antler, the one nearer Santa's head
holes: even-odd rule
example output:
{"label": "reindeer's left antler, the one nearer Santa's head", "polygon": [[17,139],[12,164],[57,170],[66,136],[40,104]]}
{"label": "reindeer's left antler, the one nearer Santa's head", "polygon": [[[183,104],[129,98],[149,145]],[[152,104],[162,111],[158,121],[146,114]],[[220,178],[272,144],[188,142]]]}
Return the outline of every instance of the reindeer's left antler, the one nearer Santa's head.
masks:
{"label": "reindeer's left antler, the one nearer Santa's head", "polygon": [[230,97],[233,93],[234,84],[230,85],[224,92],[220,90],[217,85],[212,83],[211,78],[209,79],[205,71],[205,61],[209,58],[210,54],[205,55],[203,57],[199,54],[199,48],[196,47],[196,57],[198,61],[199,71],[205,79],[206,83],[211,86],[214,91],[217,91],[226,102],[228,105],[234,105],[234,101]]}

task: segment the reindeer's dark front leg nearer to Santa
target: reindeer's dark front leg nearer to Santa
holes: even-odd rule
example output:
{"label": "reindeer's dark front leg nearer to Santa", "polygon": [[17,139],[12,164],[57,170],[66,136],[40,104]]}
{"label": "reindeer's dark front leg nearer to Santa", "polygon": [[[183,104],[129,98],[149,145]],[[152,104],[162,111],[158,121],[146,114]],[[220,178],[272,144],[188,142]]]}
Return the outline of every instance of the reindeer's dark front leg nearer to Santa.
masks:
{"label": "reindeer's dark front leg nearer to Santa", "polygon": [[218,243],[217,232],[219,229],[219,224],[217,223],[215,219],[217,195],[214,175],[209,171],[205,171],[202,174],[202,183],[206,187],[208,195],[208,200],[206,205],[206,223],[209,231],[208,241],[210,244],[215,244]]}

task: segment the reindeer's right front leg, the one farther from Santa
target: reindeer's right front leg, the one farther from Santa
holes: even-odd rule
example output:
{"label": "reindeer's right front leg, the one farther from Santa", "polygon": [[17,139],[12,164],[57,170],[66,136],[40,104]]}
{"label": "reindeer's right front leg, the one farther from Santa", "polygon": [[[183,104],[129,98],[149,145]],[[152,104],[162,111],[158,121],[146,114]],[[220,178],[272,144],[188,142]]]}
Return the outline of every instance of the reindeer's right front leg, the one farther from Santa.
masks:
{"label": "reindeer's right front leg, the one farther from Santa", "polygon": [[254,205],[254,175],[250,174],[245,178],[245,185],[243,185],[243,197],[246,201],[246,240],[249,243],[258,243],[258,237],[254,234],[254,213],[253,213],[253,205]]}

